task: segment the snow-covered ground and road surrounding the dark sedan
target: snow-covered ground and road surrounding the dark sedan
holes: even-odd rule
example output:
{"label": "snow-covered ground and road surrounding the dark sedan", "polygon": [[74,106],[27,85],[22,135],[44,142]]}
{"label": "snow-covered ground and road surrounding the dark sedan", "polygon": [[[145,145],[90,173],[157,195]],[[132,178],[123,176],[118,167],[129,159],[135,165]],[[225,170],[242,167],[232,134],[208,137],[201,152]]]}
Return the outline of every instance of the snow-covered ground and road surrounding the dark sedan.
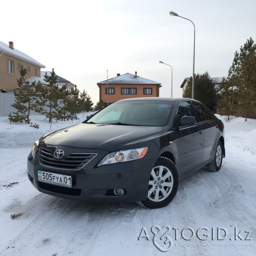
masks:
{"label": "snow-covered ground and road surrounding the dark sedan", "polygon": [[[85,116],[53,122],[51,129]],[[82,203],[37,191],[28,180],[26,159],[32,143],[49,132],[50,125],[40,116],[33,116],[32,122],[39,129],[10,125],[8,118],[0,117],[1,256],[256,255],[256,120],[224,121],[226,158],[220,171],[202,169],[181,180],[172,203],[154,210],[136,203]],[[155,226],[152,233],[153,225],[171,230],[156,233]],[[200,230],[203,227],[208,230]],[[165,245],[160,233],[172,243]],[[198,238],[206,237],[203,233],[206,240]]]}

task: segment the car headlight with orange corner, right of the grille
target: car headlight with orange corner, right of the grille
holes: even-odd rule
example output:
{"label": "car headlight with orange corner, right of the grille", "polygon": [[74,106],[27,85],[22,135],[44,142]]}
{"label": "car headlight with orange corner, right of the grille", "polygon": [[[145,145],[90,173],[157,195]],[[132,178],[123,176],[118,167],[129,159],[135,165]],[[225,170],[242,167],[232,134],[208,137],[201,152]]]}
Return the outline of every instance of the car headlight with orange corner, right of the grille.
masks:
{"label": "car headlight with orange corner, right of the grille", "polygon": [[145,156],[146,152],[147,147],[111,152],[100,161],[98,166],[140,159]]}

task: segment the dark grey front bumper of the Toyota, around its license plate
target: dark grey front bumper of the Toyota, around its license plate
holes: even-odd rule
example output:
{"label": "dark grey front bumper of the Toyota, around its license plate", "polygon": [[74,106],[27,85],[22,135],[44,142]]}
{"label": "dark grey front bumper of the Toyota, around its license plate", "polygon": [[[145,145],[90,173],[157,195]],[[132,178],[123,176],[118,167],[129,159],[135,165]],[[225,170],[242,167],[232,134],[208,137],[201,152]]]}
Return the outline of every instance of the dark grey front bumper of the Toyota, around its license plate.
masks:
{"label": "dark grey front bumper of the Toyota, around its license plate", "polygon": [[[147,198],[148,182],[157,159],[142,159],[97,167],[106,152],[100,152],[80,170],[58,170],[39,164],[38,154],[28,156],[28,177],[32,185],[42,193],[81,201],[136,202]],[[72,176],[72,188],[38,181],[37,170]],[[114,189],[123,189],[123,195],[115,195]]]}

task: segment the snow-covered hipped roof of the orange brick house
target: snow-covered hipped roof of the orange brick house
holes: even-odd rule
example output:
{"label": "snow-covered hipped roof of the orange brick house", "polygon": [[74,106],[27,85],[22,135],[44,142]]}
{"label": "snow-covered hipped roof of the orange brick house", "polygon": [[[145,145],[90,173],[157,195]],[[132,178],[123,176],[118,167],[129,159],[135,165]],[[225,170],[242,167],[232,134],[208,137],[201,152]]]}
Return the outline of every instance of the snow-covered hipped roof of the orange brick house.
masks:
{"label": "snow-covered hipped roof of the orange brick house", "polygon": [[135,76],[131,73],[126,73],[120,76],[110,78],[108,80],[104,80],[102,82],[97,83],[97,85],[107,84],[107,83],[108,84],[157,84],[159,86],[161,84],[156,81],[143,78],[141,76]]}

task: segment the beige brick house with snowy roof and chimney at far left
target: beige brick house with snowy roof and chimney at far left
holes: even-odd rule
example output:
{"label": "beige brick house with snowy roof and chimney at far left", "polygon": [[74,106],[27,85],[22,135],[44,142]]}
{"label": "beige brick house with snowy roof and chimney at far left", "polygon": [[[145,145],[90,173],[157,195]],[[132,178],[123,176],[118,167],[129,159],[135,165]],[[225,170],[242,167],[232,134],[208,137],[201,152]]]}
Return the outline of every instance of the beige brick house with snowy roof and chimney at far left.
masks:
{"label": "beige brick house with snowy roof and chimney at far left", "polygon": [[20,78],[19,70],[26,68],[27,74],[25,79],[32,76],[41,77],[41,68],[44,65],[37,62],[25,53],[14,49],[13,42],[9,45],[0,42],[0,92],[11,91],[16,89],[17,79]]}

